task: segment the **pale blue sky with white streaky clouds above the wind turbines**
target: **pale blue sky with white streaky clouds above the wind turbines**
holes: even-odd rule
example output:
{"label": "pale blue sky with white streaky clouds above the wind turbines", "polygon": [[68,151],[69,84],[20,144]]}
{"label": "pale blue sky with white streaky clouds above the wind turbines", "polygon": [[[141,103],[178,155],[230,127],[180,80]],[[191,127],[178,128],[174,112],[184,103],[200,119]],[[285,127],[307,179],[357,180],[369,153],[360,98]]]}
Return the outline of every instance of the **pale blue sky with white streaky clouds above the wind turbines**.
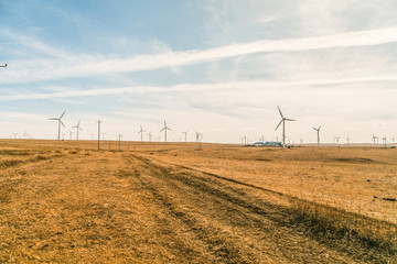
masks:
{"label": "pale blue sky with white streaky clouds above the wind turbines", "polygon": [[[389,143],[397,1],[0,0],[0,138]],[[74,132],[74,133],[73,133]]]}

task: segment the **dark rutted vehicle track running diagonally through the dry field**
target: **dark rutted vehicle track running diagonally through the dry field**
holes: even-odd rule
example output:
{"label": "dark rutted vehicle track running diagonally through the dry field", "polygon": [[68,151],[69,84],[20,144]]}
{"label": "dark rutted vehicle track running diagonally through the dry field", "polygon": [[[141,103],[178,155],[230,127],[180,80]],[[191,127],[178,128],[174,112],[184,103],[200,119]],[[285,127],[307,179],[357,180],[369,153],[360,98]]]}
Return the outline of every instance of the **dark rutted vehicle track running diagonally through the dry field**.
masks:
{"label": "dark rutted vehicle track running diagonally through the dry field", "polygon": [[[341,252],[319,245],[293,230],[288,211],[271,202],[253,199],[250,186],[225,185],[218,178],[181,167],[164,167],[139,155],[143,185],[161,207],[207,245],[217,261],[355,262]],[[310,249],[310,250],[308,250]],[[360,261],[358,261],[360,262]]]}

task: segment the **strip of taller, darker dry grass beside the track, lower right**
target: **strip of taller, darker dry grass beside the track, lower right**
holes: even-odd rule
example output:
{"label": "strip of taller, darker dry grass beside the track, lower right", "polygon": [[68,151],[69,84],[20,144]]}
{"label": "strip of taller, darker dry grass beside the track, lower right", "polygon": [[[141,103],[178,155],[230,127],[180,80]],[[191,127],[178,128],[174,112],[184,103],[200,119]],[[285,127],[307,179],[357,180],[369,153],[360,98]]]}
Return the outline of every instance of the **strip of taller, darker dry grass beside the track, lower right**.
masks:
{"label": "strip of taller, darker dry grass beside the track, lower right", "polygon": [[320,241],[334,241],[345,251],[357,245],[374,250],[385,260],[397,255],[396,224],[310,201],[291,199],[291,205],[292,221],[302,224],[307,234]]}

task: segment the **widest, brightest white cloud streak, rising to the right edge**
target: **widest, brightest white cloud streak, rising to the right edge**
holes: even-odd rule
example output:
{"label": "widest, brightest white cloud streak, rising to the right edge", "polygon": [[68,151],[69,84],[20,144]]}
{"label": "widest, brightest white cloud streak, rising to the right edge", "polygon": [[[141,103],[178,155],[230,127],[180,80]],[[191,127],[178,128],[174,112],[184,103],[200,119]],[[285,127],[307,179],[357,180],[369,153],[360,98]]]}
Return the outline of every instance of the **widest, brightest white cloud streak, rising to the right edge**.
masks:
{"label": "widest, brightest white cloud streak, rising to the right edge", "polygon": [[[203,51],[169,51],[154,55],[140,55],[129,58],[65,55],[62,52],[52,51],[47,46],[36,44],[35,46],[39,51],[44,50],[47,54],[60,55],[65,59],[39,59],[36,65],[40,67],[31,67],[21,70],[24,72],[23,74],[30,79],[58,79],[126,72],[154,70],[160,68],[214,62],[255,53],[299,52],[332,47],[371,46],[393,42],[397,42],[397,28],[347,32],[316,37],[285,38],[277,41],[265,40],[226,45]],[[10,62],[10,64],[12,63],[20,64],[21,62]],[[26,65],[34,65],[34,62],[26,62]]]}

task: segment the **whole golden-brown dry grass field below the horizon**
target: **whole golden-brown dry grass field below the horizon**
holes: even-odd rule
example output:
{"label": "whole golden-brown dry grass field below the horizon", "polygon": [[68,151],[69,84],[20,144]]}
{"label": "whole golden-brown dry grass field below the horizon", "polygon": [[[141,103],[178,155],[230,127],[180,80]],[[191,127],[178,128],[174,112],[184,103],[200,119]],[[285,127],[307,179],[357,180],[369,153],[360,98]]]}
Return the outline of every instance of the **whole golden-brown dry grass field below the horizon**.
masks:
{"label": "whole golden-brown dry grass field below the horizon", "polygon": [[0,141],[1,263],[397,263],[397,150]]}

